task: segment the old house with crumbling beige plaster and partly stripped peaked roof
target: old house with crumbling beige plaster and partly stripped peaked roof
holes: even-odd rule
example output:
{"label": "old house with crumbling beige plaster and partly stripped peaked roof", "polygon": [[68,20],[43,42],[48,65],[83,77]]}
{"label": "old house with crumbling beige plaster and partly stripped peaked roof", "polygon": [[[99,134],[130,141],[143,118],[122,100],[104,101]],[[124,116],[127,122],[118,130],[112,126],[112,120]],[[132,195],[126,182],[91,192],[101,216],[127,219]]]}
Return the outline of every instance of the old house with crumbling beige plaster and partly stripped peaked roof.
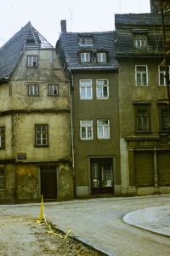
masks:
{"label": "old house with crumbling beige plaster and partly stripped peaked roof", "polygon": [[28,22],[0,49],[0,201],[73,198],[68,79]]}

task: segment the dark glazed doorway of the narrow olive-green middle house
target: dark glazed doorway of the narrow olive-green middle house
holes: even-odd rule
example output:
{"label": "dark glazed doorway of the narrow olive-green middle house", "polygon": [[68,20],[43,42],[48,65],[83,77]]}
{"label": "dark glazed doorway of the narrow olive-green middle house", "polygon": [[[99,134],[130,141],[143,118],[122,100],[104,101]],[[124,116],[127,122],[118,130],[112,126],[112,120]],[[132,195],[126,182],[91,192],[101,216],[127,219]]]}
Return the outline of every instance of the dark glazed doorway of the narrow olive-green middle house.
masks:
{"label": "dark glazed doorway of the narrow olive-green middle house", "polygon": [[113,195],[113,160],[96,158],[90,160],[92,195]]}

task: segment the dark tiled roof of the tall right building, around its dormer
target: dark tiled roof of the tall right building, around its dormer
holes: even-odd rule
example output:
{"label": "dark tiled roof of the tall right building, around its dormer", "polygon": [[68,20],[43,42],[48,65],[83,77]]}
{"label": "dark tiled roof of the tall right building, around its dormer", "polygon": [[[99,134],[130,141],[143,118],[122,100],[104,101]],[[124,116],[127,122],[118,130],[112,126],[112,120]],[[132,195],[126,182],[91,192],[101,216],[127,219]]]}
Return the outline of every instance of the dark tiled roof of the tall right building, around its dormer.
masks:
{"label": "dark tiled roof of the tall right building, around its dormer", "polygon": [[[170,19],[166,20],[170,25]],[[116,58],[125,56],[162,57],[164,55],[161,29],[161,14],[126,14],[115,15]],[[134,46],[134,35],[147,35],[147,47],[138,49]]]}

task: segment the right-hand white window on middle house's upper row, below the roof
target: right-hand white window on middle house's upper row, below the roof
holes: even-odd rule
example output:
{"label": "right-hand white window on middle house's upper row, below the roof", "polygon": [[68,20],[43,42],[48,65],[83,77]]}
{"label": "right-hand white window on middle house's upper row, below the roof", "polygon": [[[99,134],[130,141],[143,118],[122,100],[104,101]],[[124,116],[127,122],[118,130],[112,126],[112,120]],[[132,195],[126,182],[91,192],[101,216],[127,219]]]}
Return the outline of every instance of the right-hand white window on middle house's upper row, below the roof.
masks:
{"label": "right-hand white window on middle house's upper row, below the roof", "polygon": [[[102,83],[102,81],[104,83]],[[97,79],[96,80],[96,96],[98,99],[109,98],[109,80],[108,79]]]}

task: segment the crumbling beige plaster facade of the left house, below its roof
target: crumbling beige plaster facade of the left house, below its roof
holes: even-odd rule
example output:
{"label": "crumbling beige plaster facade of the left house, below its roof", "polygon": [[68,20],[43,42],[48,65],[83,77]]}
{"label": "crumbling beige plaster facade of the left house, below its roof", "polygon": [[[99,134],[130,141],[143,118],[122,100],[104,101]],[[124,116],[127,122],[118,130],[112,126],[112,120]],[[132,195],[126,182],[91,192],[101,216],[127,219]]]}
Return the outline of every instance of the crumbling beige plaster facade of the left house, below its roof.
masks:
{"label": "crumbling beige plaster facade of the left house, below its roof", "polygon": [[[38,56],[37,67],[27,67],[28,55]],[[38,96],[28,95],[29,84],[38,84]],[[57,84],[57,96],[48,95],[48,84]],[[43,180],[49,173],[49,180],[56,179],[55,200],[73,198],[69,82],[54,49],[23,51],[8,83],[0,86],[0,113],[0,126],[5,128],[5,147],[0,150],[5,182],[0,201],[39,201],[43,173]],[[48,125],[47,147],[36,147],[38,124]],[[47,194],[48,189],[44,189]]]}

